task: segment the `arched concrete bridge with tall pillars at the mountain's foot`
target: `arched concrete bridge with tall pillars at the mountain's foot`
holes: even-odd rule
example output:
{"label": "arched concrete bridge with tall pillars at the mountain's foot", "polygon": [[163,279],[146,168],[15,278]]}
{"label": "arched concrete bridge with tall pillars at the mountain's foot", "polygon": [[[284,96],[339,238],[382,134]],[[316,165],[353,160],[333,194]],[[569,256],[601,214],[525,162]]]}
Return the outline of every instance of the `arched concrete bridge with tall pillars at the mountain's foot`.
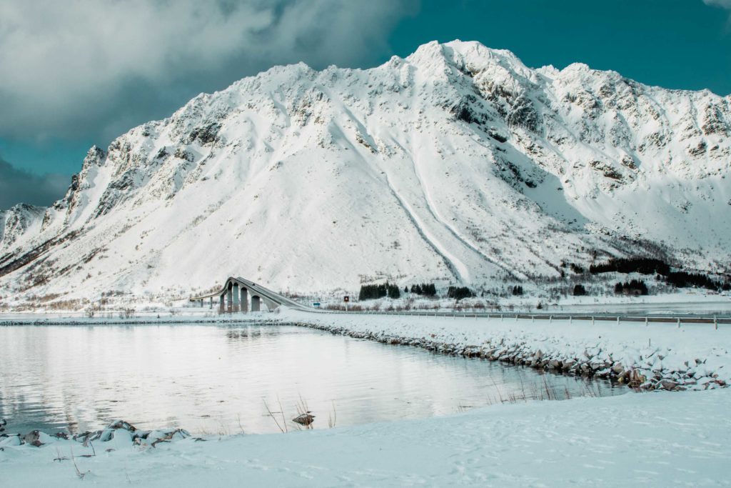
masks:
{"label": "arched concrete bridge with tall pillars at the mountain's foot", "polygon": [[[190,301],[200,301],[200,306],[203,307],[206,299],[208,299],[211,309],[213,309],[213,301],[218,302],[219,313],[249,312],[249,310],[259,312],[262,302],[270,310],[276,309],[280,305],[298,310],[313,310],[311,307],[241,277],[229,277],[221,290],[208,293],[208,295],[194,296]],[[251,301],[251,306],[249,306],[249,301]]]}

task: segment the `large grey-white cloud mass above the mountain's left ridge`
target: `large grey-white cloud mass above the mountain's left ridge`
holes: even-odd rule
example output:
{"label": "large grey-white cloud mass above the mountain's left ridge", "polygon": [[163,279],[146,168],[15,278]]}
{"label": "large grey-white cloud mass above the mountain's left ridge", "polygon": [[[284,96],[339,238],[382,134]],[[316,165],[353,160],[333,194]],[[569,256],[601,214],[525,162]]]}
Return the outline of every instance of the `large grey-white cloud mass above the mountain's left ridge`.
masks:
{"label": "large grey-white cloud mass above the mountain's left ridge", "polygon": [[406,1],[4,0],[0,138],[111,136],[273,64],[375,60]]}

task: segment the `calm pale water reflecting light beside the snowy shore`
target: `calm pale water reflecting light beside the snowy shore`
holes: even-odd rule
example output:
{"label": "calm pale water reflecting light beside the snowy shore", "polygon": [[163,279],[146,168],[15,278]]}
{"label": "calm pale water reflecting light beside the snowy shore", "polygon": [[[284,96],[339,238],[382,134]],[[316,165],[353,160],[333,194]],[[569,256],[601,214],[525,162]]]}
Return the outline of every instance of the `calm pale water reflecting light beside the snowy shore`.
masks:
{"label": "calm pale water reflecting light beside the snowy shore", "polygon": [[[7,432],[137,427],[279,432],[303,399],[327,428],[420,418],[544,389],[621,394],[607,382],[292,326],[0,327],[0,418]],[[333,408],[334,405],[334,408]],[[279,417],[279,416],[278,416]]]}

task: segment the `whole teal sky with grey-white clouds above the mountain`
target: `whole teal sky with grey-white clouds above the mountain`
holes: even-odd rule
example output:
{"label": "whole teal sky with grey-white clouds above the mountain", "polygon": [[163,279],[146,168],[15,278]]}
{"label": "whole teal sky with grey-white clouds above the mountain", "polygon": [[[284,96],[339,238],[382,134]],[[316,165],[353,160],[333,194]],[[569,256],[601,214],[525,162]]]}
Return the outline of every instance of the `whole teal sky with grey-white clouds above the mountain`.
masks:
{"label": "whole teal sky with grey-white clouds above the mountain", "polygon": [[3,0],[0,209],[61,198],[92,145],[276,64],[374,67],[477,40],[731,94],[731,0]]}

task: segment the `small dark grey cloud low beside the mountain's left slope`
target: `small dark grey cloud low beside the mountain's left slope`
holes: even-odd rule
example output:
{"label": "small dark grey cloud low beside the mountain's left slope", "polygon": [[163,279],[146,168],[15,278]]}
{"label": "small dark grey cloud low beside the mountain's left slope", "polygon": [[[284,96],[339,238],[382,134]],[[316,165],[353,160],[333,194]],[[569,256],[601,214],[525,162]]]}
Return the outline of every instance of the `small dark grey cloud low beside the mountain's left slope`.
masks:
{"label": "small dark grey cloud low beside the mountain's left slope", "polygon": [[37,176],[0,159],[0,210],[10,209],[16,203],[50,206],[64,196],[70,182],[66,175]]}

